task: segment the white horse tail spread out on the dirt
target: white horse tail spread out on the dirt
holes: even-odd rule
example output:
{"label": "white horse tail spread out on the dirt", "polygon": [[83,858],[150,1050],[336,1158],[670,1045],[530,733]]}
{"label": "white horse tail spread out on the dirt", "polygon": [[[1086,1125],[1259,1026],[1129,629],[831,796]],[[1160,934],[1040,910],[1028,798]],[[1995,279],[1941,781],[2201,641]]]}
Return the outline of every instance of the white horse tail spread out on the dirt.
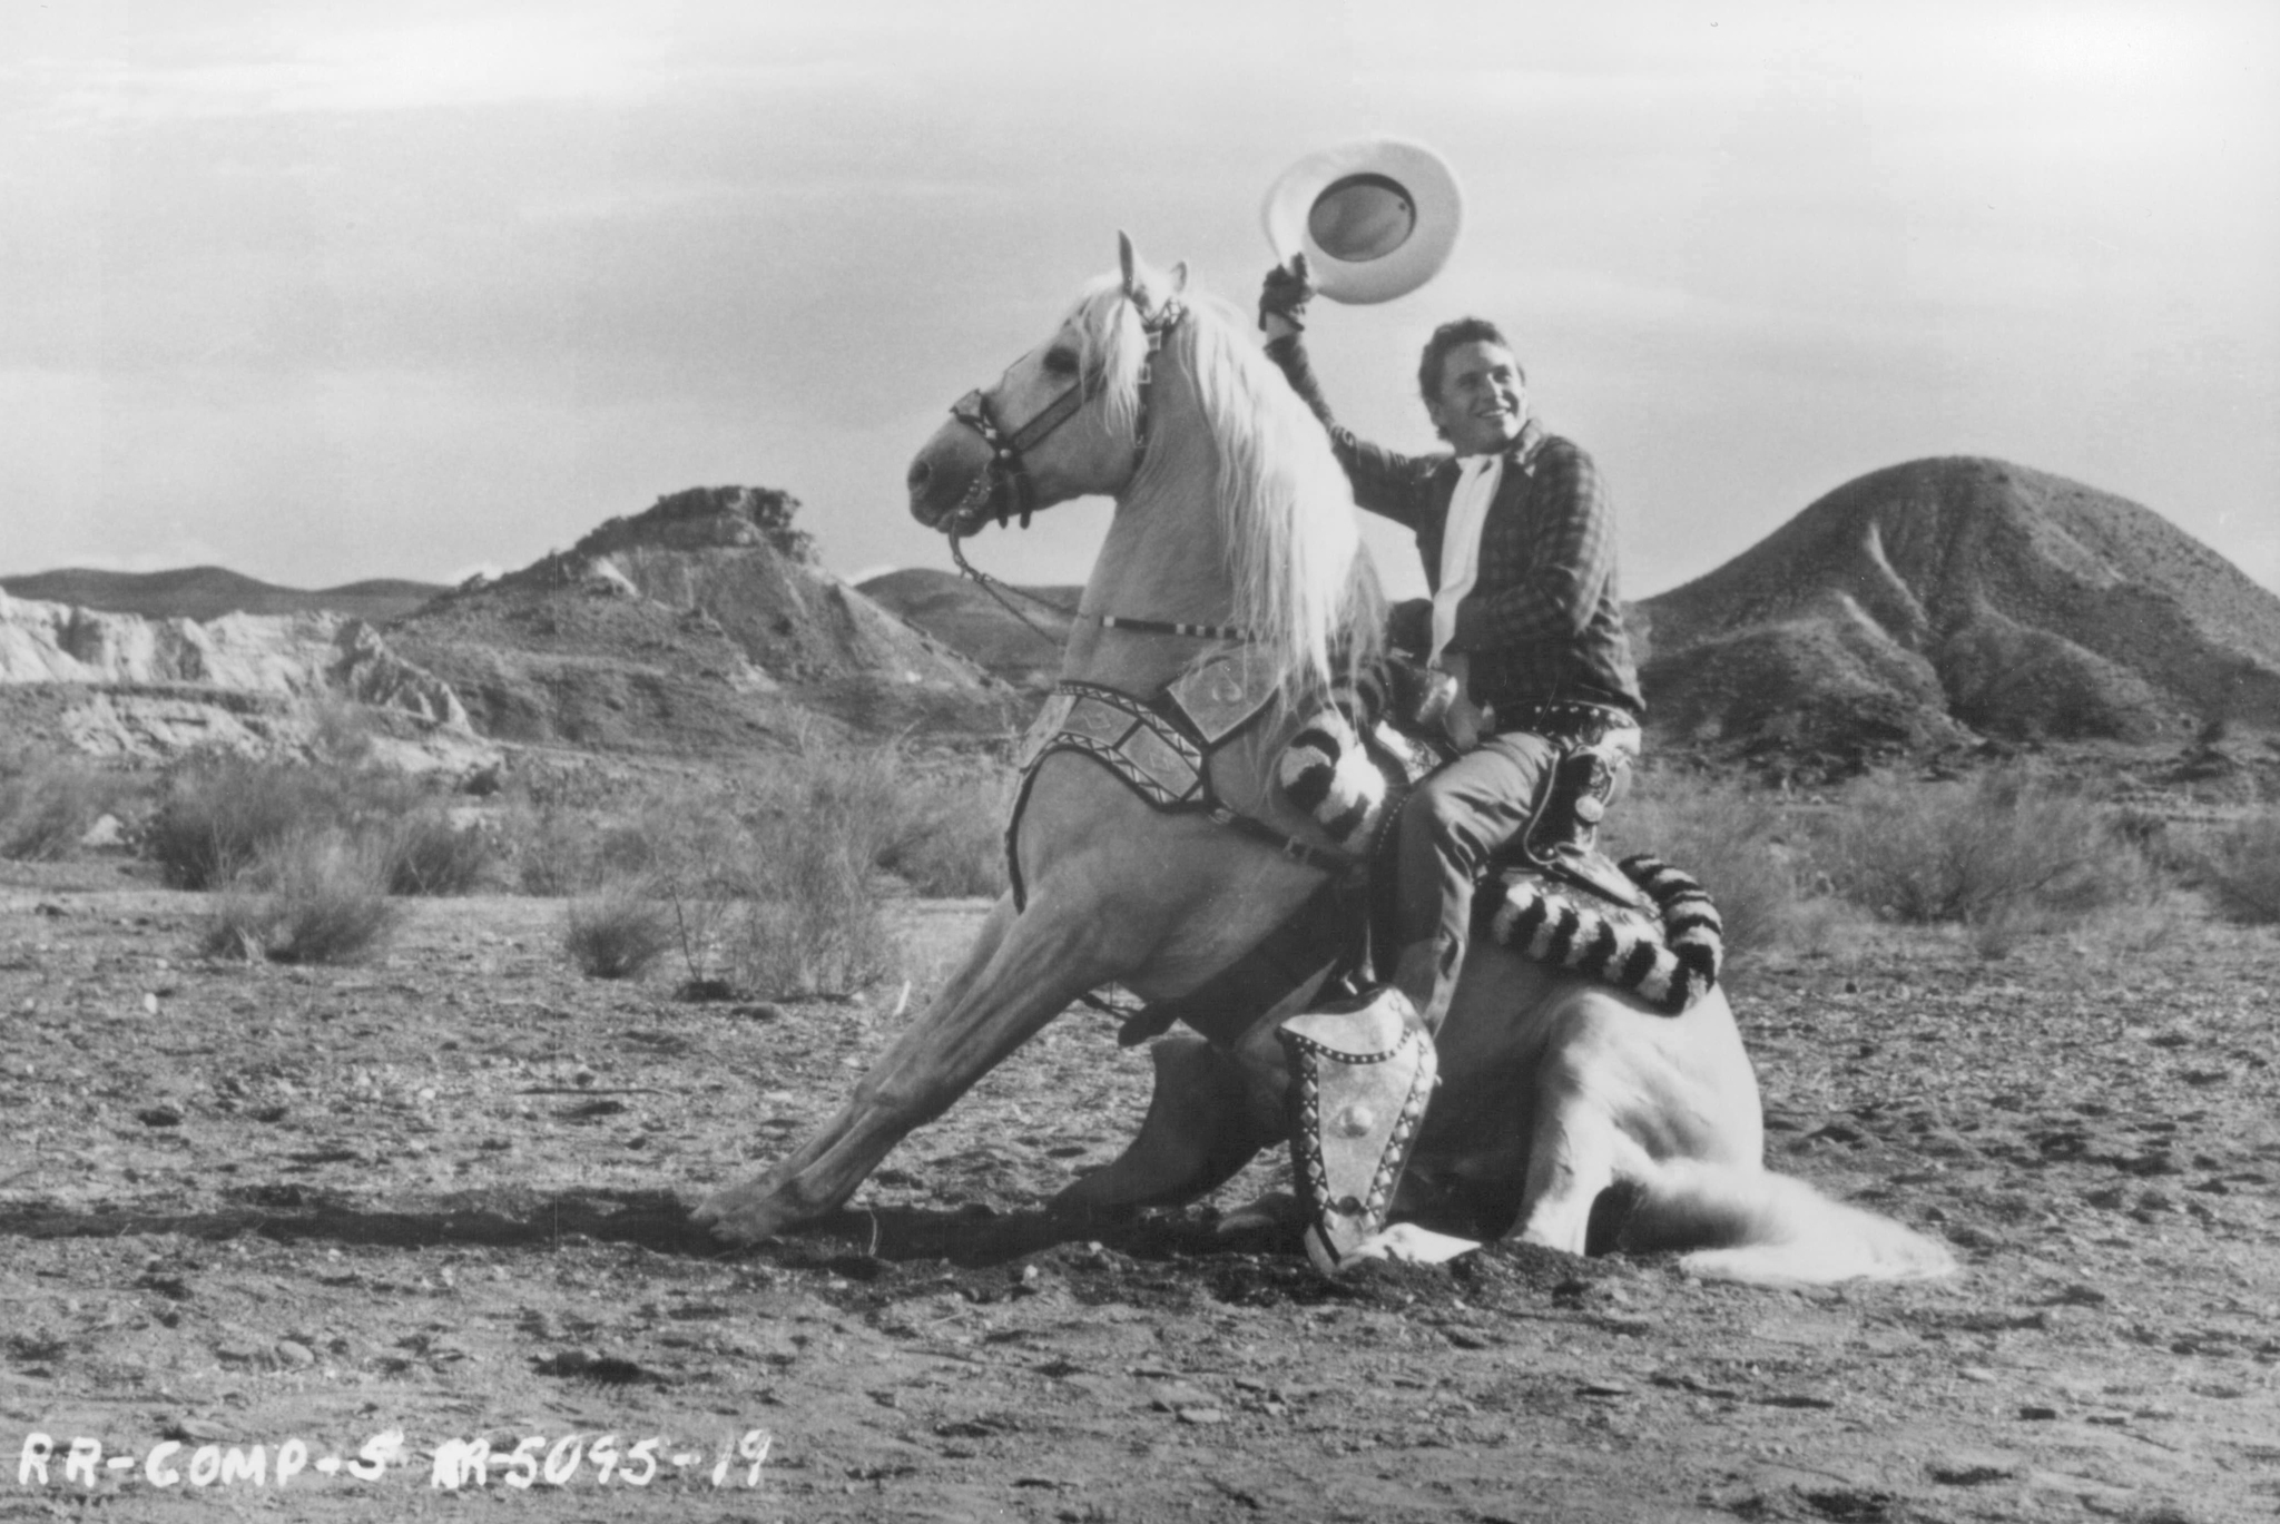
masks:
{"label": "white horse tail spread out on the dirt", "polygon": [[1838,1280],[1952,1275],[1947,1246],[1892,1218],[1829,1200],[1760,1168],[1664,1159],[1637,1182],[1621,1248],[1692,1248],[1678,1266],[1703,1280],[1817,1287]]}

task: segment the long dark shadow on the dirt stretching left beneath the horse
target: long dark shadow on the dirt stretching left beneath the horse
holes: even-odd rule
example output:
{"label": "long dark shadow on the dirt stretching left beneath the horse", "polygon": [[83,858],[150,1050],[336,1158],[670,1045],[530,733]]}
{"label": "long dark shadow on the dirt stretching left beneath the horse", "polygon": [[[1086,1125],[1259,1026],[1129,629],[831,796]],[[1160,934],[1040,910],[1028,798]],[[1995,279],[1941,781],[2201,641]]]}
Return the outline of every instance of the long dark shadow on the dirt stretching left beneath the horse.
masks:
{"label": "long dark shadow on the dirt stretching left beneath the horse", "polygon": [[246,1234],[285,1246],[554,1255],[591,1246],[638,1248],[684,1262],[784,1273],[828,1300],[880,1307],[944,1291],[976,1303],[1019,1298],[1049,1284],[1083,1303],[1186,1307],[1197,1298],[1243,1305],[1370,1303],[1409,1307],[1480,1303],[1496,1291],[1573,1296],[1614,1266],[1521,1243],[1496,1243],[1448,1266],[1366,1264],[1336,1280],[1300,1253],[1290,1227],[1220,1232],[1211,1209],[1069,1216],[1042,1207],[994,1211],[841,1209],[757,1246],[730,1246],[689,1221],[673,1191],[481,1191],[381,1205],[301,1184],[223,1191],[203,1211],[132,1205],[0,1209],[7,1239]]}

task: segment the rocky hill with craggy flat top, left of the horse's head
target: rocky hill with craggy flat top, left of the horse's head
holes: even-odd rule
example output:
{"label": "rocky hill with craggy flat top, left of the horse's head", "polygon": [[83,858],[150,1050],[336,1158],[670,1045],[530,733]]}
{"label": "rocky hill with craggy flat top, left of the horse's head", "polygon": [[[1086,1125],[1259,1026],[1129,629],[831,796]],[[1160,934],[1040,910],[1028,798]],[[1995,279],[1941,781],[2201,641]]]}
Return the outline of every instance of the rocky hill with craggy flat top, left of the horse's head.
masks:
{"label": "rocky hill with craggy flat top, left of the horse's head", "polygon": [[798,500],[691,488],[568,552],[470,582],[388,641],[481,735],[597,751],[720,751],[819,721],[996,737],[1012,691],[828,573]]}

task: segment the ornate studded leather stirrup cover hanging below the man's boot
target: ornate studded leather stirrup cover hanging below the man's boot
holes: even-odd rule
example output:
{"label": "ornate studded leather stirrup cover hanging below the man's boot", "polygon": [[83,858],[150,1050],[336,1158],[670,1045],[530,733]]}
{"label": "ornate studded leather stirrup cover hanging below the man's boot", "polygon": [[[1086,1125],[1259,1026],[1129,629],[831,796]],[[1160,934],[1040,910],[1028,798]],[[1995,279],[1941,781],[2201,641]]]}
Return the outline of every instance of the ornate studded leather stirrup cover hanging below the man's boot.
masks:
{"label": "ornate studded leather stirrup cover hanging below the man's boot", "polygon": [[1306,1257],[1336,1275],[1386,1225],[1439,1059],[1409,997],[1393,988],[1293,1015],[1275,1036],[1297,1075],[1290,1159]]}

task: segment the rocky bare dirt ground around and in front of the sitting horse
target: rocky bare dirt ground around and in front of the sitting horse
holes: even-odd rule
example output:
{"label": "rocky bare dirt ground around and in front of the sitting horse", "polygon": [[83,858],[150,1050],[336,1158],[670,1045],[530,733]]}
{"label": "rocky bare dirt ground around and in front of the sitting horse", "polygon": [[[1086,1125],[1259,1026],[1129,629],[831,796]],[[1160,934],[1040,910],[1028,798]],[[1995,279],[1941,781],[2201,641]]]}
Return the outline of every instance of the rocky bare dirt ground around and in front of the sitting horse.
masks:
{"label": "rocky bare dirt ground around and in front of the sitting horse", "polygon": [[[686,1207],[837,1102],[898,988],[588,983],[529,899],[417,903],[342,970],[201,963],[198,915],[116,862],[0,878],[0,1519],[2280,1510],[2271,933],[1760,963],[1776,1164],[1965,1259],[1801,1296],[1056,1225],[1145,1104],[1083,1015],[853,1211],[725,1250]],[[917,997],[976,915],[907,906]]]}

